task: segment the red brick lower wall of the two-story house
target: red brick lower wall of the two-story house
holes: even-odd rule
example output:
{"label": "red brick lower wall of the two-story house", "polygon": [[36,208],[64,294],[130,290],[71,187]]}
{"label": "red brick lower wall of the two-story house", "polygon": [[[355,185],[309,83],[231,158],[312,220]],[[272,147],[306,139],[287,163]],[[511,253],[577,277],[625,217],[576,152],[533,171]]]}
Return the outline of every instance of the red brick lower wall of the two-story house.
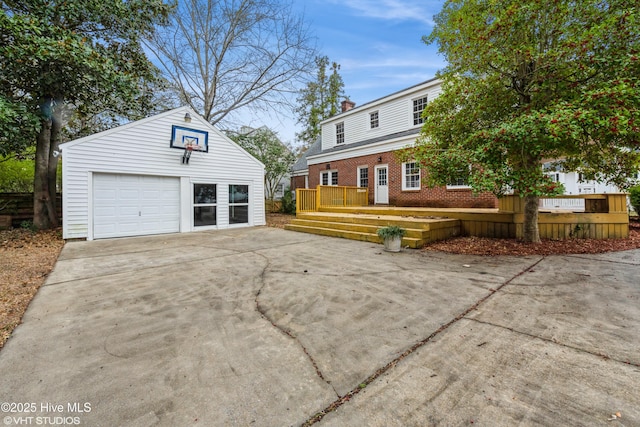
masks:
{"label": "red brick lower wall of the two-story house", "polygon": [[[378,161],[381,158],[381,161]],[[434,208],[496,208],[498,199],[491,193],[474,196],[468,189],[452,189],[445,187],[427,188],[421,184],[420,190],[402,191],[402,163],[398,162],[393,152],[378,153],[368,156],[309,165],[309,188],[320,184],[320,172],[338,171],[338,185],[357,186],[358,167],[369,169],[369,203],[374,204],[375,166],[389,166],[389,204],[394,206],[424,206]],[[304,182],[303,182],[304,186]]]}

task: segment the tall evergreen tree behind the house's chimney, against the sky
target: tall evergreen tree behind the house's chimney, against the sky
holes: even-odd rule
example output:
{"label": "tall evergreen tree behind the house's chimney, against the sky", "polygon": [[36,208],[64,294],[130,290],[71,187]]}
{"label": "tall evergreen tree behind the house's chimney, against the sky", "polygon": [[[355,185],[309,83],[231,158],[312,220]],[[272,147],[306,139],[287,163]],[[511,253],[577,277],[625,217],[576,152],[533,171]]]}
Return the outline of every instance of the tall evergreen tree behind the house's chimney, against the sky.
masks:
{"label": "tall evergreen tree behind the house's chimney, against the sky", "polygon": [[338,73],[340,65],[331,62],[330,73],[327,75],[329,58],[320,56],[315,59],[318,72],[314,81],[307,82],[298,96],[298,123],[304,129],[296,134],[304,147],[309,147],[320,136],[320,122],[333,117],[340,112],[340,99],[344,98],[344,82]]}

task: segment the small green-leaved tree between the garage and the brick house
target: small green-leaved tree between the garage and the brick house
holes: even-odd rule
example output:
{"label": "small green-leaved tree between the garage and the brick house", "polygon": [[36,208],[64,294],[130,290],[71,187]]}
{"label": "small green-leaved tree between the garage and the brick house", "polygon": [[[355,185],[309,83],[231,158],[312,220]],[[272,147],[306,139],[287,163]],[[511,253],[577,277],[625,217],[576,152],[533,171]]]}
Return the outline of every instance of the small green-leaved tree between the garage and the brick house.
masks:
{"label": "small green-leaved tree between the garage and the brick house", "polygon": [[264,184],[269,200],[273,202],[280,180],[289,173],[296,161],[291,150],[266,127],[228,132],[228,136],[264,164]]}

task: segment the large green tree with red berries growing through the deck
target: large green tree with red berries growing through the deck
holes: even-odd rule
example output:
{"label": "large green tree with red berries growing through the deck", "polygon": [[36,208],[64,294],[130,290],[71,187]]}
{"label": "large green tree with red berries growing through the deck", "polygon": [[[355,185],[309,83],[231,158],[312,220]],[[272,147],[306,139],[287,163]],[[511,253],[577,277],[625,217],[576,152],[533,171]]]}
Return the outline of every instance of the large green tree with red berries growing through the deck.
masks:
{"label": "large green tree with red berries growing through the deck", "polygon": [[640,165],[640,15],[632,3],[447,1],[424,38],[447,60],[443,91],[406,155],[431,185],[464,174],[476,191],[519,194],[529,242],[539,241],[539,197],[562,191],[543,161],[628,187]]}

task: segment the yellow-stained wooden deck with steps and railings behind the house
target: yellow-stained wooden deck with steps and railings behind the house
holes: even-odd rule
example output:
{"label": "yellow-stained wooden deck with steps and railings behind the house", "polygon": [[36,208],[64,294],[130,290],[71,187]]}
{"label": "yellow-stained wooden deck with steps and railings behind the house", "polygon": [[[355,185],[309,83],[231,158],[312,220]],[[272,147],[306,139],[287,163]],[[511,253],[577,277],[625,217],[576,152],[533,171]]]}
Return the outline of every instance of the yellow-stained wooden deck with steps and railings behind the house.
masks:
{"label": "yellow-stained wooden deck with steps and railings behind the house", "polygon": [[[319,196],[326,190],[319,188],[317,193],[312,191],[305,190],[305,197],[313,201],[313,206],[299,202],[296,219],[286,229],[381,243],[376,230],[397,225],[407,230],[402,244],[411,248],[420,248],[427,243],[458,235],[518,239],[523,235],[524,203],[517,196],[500,199],[498,209],[423,208],[349,206],[351,202],[347,196],[340,200],[334,196],[330,205],[327,205]],[[351,188],[349,191],[354,190]],[[348,194],[347,190],[344,190],[344,194]],[[625,194],[573,197],[584,199],[585,208],[582,212],[541,210],[538,213],[542,239],[611,239],[629,236]],[[362,204],[362,200],[357,203]]]}

